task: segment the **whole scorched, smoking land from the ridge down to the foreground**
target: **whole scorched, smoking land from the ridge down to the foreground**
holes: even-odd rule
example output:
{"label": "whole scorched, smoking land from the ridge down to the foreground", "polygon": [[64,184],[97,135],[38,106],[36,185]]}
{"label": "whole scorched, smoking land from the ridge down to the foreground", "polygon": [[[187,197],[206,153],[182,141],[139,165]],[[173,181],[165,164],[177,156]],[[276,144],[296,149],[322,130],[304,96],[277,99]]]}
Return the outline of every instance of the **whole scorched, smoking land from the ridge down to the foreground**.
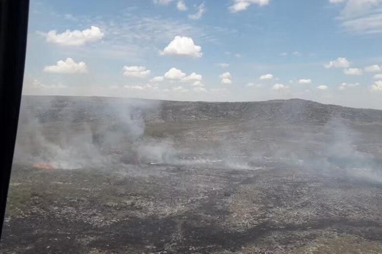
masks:
{"label": "whole scorched, smoking land from the ridge down to the foreground", "polygon": [[25,96],[4,254],[382,253],[382,111]]}

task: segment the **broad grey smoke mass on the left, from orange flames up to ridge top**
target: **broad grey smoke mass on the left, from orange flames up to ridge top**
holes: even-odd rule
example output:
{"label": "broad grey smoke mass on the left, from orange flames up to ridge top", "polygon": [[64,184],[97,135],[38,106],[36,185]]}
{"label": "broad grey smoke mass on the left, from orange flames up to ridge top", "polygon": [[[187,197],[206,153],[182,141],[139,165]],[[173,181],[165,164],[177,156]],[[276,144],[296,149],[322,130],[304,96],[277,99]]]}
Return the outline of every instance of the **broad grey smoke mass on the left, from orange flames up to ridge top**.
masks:
{"label": "broad grey smoke mass on the left, from orange flames up to ridge top", "polygon": [[[125,162],[136,162],[143,154],[156,159],[169,150],[168,145],[152,149],[151,144],[142,142],[143,113],[158,108],[157,103],[114,99],[94,106],[89,105],[94,101],[81,98],[76,99],[80,103],[67,98],[29,99],[23,97],[15,163],[55,169],[102,168],[126,157]],[[88,112],[94,108],[96,114]],[[93,119],[95,115],[98,118]]]}

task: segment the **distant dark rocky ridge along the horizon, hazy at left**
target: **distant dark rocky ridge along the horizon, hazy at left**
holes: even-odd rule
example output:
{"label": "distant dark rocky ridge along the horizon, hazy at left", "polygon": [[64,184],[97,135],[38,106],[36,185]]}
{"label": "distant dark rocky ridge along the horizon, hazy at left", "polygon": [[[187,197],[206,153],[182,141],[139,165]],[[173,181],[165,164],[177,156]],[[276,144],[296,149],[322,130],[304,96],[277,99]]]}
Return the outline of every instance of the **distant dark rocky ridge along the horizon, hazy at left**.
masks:
{"label": "distant dark rocky ridge along the horizon, hazy at left", "polygon": [[121,115],[148,122],[271,120],[325,123],[332,117],[351,122],[382,122],[382,110],[324,105],[301,99],[265,102],[177,102],[110,97],[24,96],[21,119],[32,113],[42,122],[114,121]]}

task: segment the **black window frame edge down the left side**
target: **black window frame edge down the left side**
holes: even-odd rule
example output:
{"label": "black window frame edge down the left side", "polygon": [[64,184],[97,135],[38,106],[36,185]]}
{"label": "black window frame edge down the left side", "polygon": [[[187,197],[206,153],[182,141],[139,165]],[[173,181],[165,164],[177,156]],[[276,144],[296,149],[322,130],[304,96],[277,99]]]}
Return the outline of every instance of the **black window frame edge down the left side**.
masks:
{"label": "black window frame edge down the left side", "polygon": [[23,90],[29,0],[0,0],[0,237]]}

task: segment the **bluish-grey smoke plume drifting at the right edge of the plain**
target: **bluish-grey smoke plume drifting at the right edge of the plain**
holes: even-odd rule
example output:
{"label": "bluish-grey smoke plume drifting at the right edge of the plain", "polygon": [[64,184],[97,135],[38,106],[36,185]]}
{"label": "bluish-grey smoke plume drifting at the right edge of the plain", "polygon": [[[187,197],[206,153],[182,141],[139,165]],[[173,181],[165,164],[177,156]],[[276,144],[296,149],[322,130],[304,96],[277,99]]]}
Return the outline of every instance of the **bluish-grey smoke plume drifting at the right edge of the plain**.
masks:
{"label": "bluish-grey smoke plume drifting at the right edge of the plain", "polygon": [[294,142],[285,146],[280,147],[282,142],[270,143],[266,156],[293,167],[382,182],[381,159],[359,149],[367,133],[356,131],[352,123],[334,115],[324,125],[301,124],[300,128],[306,133],[301,131],[300,137],[288,133]]}

